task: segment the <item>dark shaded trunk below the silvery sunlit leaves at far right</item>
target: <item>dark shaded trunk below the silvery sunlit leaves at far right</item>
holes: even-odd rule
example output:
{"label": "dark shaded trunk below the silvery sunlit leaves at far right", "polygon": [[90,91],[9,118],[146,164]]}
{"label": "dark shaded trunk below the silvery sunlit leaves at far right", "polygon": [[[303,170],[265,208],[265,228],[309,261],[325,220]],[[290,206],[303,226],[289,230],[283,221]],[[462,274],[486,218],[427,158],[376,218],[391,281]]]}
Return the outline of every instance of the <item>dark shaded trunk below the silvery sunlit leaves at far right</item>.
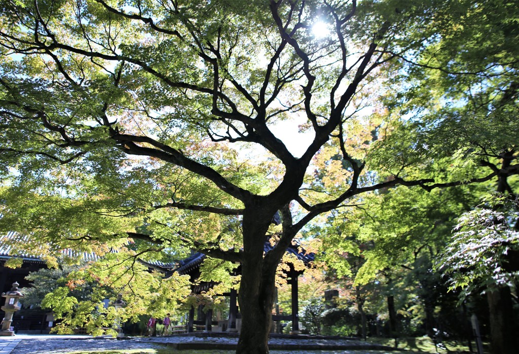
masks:
{"label": "dark shaded trunk below the silvery sunlit leaves at far right", "polygon": [[512,308],[510,288],[500,288],[487,293],[490,310],[490,334],[493,354],[517,354],[517,331]]}

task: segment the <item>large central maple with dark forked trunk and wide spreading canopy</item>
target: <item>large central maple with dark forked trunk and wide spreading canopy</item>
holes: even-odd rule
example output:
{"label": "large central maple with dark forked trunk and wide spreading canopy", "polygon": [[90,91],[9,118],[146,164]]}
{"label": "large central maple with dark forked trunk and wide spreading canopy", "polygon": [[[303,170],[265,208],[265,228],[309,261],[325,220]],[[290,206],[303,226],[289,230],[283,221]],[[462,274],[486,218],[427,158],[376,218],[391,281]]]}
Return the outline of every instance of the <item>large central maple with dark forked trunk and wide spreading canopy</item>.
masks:
{"label": "large central maple with dark forked trunk and wide spreading canopy", "polygon": [[[276,268],[306,225],[382,188],[431,190],[501,173],[495,164],[438,173],[432,153],[445,134],[429,132],[447,125],[428,119],[429,130],[418,129],[424,115],[395,119],[405,113],[388,115],[380,103],[380,88],[394,84],[388,73],[403,88],[416,82],[405,78],[414,66],[456,76],[451,61],[461,59],[442,60],[442,41],[455,48],[452,29],[471,28],[461,15],[481,8],[2,0],[2,229],[49,260],[73,247],[141,258],[196,249],[241,263],[238,352],[268,352]],[[324,36],[312,31],[318,22]],[[491,77],[494,68],[474,72]],[[422,92],[415,97],[430,108]],[[297,153],[283,121],[310,137]],[[447,149],[457,144],[465,141]],[[281,225],[272,226],[277,212]],[[275,247],[264,254],[267,235]]]}

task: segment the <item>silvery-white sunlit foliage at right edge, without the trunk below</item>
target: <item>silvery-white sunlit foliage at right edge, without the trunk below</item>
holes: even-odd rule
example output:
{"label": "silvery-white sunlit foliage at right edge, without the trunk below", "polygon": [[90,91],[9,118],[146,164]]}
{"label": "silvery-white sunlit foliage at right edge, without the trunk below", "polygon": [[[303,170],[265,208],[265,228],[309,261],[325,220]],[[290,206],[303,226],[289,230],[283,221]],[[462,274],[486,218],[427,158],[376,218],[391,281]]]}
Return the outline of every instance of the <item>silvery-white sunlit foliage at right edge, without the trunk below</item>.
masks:
{"label": "silvery-white sunlit foliage at right edge, without the trunk below", "polygon": [[450,288],[462,290],[462,298],[481,290],[515,287],[519,280],[517,200],[489,195],[485,201],[460,216],[438,263]]}

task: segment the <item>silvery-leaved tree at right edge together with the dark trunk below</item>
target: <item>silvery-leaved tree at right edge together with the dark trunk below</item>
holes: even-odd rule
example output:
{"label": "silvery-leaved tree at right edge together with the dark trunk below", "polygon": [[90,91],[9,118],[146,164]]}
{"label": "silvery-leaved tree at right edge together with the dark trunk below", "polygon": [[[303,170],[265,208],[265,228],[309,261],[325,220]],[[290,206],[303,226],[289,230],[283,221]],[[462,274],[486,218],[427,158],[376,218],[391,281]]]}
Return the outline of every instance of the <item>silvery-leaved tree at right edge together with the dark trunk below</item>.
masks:
{"label": "silvery-leaved tree at right edge together with the dark trunk below", "polygon": [[509,336],[519,322],[511,297],[519,283],[518,206],[515,195],[491,195],[483,205],[461,215],[438,264],[450,288],[461,290],[461,299],[487,293],[497,353],[512,353],[519,345],[517,338]]}

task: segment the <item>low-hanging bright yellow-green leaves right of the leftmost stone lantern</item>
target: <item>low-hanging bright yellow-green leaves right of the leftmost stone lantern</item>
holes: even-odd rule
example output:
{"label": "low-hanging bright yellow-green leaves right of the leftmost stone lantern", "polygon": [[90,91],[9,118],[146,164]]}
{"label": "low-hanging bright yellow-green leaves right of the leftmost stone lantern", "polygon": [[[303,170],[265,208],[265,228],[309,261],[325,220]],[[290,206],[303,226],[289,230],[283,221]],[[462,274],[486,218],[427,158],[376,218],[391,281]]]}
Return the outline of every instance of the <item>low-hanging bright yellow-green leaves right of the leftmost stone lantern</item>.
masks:
{"label": "low-hanging bright yellow-green leaves right of the leftmost stone lantern", "polygon": [[[70,290],[85,282],[90,284],[91,291],[83,293],[83,298],[71,296]],[[136,260],[134,253],[120,252],[107,254],[102,260],[71,273],[65,287],[45,296],[42,307],[51,309],[56,319],[61,320],[53,329],[58,333],[84,328],[92,335],[116,335],[114,323],[138,321],[143,314],[165,317],[175,312],[189,293],[187,276],[175,273],[163,278],[161,273],[150,272]],[[117,294],[125,305],[115,311],[113,303]],[[108,307],[104,299],[109,299]]]}

